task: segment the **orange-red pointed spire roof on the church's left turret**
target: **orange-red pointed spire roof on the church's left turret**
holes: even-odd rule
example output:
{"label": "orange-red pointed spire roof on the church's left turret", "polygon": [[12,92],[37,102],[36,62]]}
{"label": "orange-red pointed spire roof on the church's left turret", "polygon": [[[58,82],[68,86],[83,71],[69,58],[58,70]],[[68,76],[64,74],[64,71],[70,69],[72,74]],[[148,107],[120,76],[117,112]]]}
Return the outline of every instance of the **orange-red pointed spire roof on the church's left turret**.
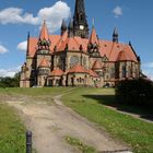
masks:
{"label": "orange-red pointed spire roof on the church's left turret", "polygon": [[49,40],[49,34],[48,34],[46,21],[44,21],[44,24],[42,26],[39,39],[42,39],[42,40],[44,40],[44,39]]}

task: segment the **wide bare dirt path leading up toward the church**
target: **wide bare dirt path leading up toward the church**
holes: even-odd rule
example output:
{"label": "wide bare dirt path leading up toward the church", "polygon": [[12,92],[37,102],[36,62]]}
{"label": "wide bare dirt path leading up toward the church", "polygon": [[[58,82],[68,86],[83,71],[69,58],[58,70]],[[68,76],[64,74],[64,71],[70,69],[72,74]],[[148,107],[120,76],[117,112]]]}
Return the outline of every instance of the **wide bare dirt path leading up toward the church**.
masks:
{"label": "wide bare dirt path leading up toward the church", "polygon": [[78,138],[99,152],[127,149],[94,123],[62,105],[60,95],[55,96],[49,105],[39,102],[26,103],[25,99],[7,102],[20,110],[26,127],[33,131],[37,153],[79,153],[66,143],[66,136]]}

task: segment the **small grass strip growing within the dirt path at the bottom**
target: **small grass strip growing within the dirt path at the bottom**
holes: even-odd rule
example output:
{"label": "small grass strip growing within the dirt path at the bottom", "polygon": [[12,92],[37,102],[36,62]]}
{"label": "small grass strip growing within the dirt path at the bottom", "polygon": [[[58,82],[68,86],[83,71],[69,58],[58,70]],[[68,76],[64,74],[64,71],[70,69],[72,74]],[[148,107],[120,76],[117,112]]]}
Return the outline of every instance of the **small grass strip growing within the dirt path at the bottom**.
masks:
{"label": "small grass strip growing within the dirt path at the bottom", "polygon": [[80,141],[76,138],[67,136],[64,138],[64,140],[66,140],[67,143],[69,143],[72,146],[75,146],[82,153],[97,153],[96,150],[93,146],[89,146],[89,145],[84,144],[82,141]]}

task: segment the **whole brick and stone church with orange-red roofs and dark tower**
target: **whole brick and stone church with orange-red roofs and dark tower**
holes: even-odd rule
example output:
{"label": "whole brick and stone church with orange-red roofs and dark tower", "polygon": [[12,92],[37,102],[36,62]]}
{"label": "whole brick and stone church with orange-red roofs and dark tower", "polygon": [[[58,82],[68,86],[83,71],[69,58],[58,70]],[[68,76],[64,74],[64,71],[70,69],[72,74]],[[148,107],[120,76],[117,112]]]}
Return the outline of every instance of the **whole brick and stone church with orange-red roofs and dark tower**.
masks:
{"label": "whole brick and stone church with orange-red roofs and dark tower", "polygon": [[131,43],[120,44],[117,28],[111,40],[90,32],[84,0],[75,0],[74,15],[60,35],[50,35],[44,22],[38,37],[27,37],[26,62],[21,68],[21,87],[114,86],[140,76],[140,57]]}

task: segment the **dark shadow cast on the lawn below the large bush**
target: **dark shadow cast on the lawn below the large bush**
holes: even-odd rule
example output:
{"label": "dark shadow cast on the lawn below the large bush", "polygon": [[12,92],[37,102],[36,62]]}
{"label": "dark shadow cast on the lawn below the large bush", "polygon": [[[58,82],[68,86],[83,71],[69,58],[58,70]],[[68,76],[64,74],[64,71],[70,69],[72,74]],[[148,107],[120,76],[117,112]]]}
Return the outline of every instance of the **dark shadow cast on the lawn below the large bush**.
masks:
{"label": "dark shadow cast on the lawn below the large bush", "polygon": [[153,108],[141,108],[138,106],[129,106],[120,104],[116,101],[115,95],[83,95],[83,97],[96,99],[97,103],[103,104],[105,106],[113,107],[114,109],[139,115],[140,118],[146,119],[149,121],[153,121]]}

